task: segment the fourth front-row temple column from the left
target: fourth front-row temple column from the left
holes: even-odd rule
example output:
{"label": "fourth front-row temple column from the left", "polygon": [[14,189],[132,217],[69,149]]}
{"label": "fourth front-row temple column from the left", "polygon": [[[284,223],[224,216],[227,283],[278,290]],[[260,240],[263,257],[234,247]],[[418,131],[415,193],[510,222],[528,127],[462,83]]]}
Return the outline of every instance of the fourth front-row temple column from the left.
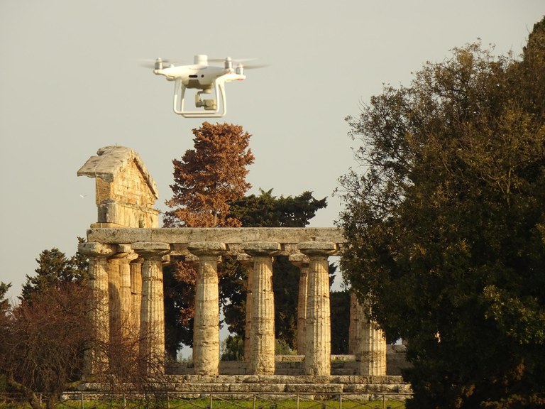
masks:
{"label": "fourth front-row temple column from the left", "polygon": [[275,297],[272,292],[272,256],[280,244],[271,241],[243,243],[242,249],[253,256],[252,322],[250,334],[251,374],[275,373]]}

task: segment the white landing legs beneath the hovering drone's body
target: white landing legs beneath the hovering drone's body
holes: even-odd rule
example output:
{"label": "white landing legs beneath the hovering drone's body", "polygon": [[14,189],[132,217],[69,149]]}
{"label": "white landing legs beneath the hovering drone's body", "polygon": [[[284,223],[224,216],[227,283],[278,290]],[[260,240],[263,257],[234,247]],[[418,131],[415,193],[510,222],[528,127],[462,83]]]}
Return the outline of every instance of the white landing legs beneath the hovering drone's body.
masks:
{"label": "white landing legs beneath the hovering drone's body", "polygon": [[185,118],[220,118],[227,114],[226,95],[224,82],[214,81],[216,98],[221,95],[221,111],[216,99],[202,99],[202,94],[211,94],[211,89],[204,89],[195,94],[195,107],[204,108],[204,111],[185,111],[184,96],[187,87],[180,80],[176,80],[174,87],[174,101],[172,108],[175,113]]}

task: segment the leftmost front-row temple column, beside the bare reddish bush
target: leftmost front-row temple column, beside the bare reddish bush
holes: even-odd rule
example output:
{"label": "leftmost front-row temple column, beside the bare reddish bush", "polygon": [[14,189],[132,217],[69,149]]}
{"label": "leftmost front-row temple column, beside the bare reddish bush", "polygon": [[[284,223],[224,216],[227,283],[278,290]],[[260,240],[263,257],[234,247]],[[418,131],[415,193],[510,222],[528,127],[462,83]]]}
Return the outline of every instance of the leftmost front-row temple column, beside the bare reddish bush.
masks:
{"label": "leftmost front-row temple column, beside the bare reddish bush", "polygon": [[84,376],[91,376],[108,369],[107,345],[109,342],[108,305],[108,257],[114,254],[114,246],[101,243],[80,243],[79,252],[89,257],[89,288],[92,304],[89,318],[96,342],[85,351]]}

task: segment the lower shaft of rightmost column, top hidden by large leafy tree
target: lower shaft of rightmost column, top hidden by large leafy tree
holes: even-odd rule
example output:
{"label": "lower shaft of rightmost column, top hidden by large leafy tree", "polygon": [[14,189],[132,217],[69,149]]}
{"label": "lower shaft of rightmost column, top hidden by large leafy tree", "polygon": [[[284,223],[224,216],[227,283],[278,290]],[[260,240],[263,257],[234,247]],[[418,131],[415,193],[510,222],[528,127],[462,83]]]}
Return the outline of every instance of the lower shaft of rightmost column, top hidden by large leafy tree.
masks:
{"label": "lower shaft of rightmost column, top hidden by large leafy tree", "polygon": [[[359,374],[362,376],[386,375],[386,338],[382,329],[369,318],[369,307],[356,299],[355,312],[360,336],[356,347],[356,361],[359,362]],[[356,320],[355,320],[356,321]]]}

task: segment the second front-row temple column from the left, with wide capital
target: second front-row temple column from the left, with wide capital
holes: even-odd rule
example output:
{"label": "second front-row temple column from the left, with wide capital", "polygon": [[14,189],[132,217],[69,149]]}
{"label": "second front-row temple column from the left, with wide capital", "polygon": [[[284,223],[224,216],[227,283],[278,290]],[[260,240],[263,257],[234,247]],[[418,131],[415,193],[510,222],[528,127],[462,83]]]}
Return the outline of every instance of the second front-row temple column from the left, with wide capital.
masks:
{"label": "second front-row temple column from the left, with wide capital", "polygon": [[133,243],[132,248],[144,259],[140,315],[143,371],[161,373],[165,370],[165,304],[161,259],[170,253],[170,244],[141,241]]}

